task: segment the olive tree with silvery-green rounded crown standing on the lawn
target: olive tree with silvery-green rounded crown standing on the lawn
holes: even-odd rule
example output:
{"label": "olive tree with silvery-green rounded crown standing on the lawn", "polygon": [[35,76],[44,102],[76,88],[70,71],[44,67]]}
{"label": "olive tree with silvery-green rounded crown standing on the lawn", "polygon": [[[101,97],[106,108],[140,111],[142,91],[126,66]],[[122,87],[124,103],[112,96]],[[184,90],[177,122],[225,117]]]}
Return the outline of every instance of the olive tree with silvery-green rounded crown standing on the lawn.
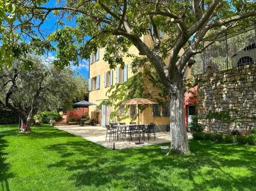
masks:
{"label": "olive tree with silvery-green rounded crown standing on the lawn", "polygon": [[3,67],[0,73],[0,104],[17,113],[27,131],[39,111],[68,109],[74,99],[81,99],[87,89],[80,89],[80,82],[68,68],[58,70],[41,60],[31,58],[33,68],[25,70],[17,60],[12,68]]}

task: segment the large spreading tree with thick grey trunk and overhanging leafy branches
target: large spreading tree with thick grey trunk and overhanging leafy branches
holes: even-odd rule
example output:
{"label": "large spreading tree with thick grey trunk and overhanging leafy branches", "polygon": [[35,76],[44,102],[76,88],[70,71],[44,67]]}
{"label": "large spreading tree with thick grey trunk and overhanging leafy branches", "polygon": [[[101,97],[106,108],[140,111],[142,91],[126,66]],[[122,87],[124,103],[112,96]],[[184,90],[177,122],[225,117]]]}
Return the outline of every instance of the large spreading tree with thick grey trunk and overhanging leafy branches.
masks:
{"label": "large spreading tree with thick grey trunk and overhanging leafy branches", "polygon": [[[256,15],[255,1],[238,0],[66,0],[54,6],[45,3],[18,2],[17,7],[23,8],[22,24],[17,22],[12,28],[27,37],[36,35],[54,42],[58,58],[54,62],[58,67],[89,59],[98,46],[107,47],[104,59],[110,68],[124,64],[123,56],[134,58],[133,67],[140,67],[143,62],[153,65],[159,81],[169,91],[171,150],[182,154],[189,152],[183,114],[183,73],[194,63],[193,56],[210,45],[202,43],[205,36],[234,24],[244,26]],[[49,35],[41,31],[42,24],[53,16],[58,19],[53,27],[57,30]],[[166,38],[159,37],[159,31]],[[143,35],[151,36],[152,47],[142,40]],[[128,54],[132,45],[141,58]]]}

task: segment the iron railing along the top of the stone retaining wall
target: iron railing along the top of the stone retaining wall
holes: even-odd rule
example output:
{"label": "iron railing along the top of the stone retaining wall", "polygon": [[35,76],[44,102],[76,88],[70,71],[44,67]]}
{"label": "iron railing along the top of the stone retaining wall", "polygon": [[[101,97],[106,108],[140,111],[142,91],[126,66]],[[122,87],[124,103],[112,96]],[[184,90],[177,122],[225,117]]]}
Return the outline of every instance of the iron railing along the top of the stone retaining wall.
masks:
{"label": "iron railing along the top of the stone retaining wall", "polygon": [[191,74],[194,76],[206,73],[208,69],[213,72],[222,71],[255,63],[255,43],[254,31],[224,41],[216,41],[206,51],[195,55],[196,62],[191,68]]}

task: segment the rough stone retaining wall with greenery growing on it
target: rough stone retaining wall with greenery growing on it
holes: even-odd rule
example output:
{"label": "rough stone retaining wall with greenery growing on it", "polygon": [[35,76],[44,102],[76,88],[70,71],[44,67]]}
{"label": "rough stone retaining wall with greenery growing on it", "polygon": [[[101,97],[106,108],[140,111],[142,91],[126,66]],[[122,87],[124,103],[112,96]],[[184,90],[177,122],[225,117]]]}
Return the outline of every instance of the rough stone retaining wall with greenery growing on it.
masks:
{"label": "rough stone retaining wall with greenery growing on it", "polygon": [[197,113],[205,132],[247,135],[256,127],[256,67],[198,75]]}

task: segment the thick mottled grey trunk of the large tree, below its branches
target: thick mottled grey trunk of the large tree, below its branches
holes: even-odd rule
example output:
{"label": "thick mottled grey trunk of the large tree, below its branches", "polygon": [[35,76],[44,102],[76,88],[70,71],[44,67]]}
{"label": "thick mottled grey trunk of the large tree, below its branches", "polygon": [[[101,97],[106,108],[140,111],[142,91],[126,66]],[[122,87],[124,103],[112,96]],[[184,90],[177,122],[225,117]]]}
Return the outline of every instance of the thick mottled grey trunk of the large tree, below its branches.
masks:
{"label": "thick mottled grey trunk of the large tree, below its branches", "polygon": [[185,127],[184,116],[184,88],[182,79],[170,89],[170,134],[171,149],[170,153],[186,154],[189,152],[188,136]]}

